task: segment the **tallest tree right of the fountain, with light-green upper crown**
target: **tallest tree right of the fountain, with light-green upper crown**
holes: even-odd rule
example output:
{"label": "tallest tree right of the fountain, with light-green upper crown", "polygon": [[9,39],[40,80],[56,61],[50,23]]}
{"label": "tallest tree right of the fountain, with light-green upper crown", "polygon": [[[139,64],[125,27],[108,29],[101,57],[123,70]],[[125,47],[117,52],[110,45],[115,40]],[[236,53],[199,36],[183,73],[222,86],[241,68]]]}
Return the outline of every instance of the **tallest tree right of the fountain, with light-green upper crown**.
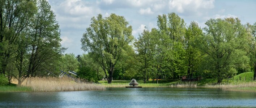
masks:
{"label": "tallest tree right of the fountain, with light-green upper crown", "polygon": [[[168,36],[168,53],[166,55],[166,68],[168,76],[177,78],[180,75],[184,75],[185,65],[185,49],[184,49],[184,38],[185,38],[185,22],[176,13],[168,13],[158,15],[157,26],[162,36]],[[171,74],[171,75],[170,75]]]}

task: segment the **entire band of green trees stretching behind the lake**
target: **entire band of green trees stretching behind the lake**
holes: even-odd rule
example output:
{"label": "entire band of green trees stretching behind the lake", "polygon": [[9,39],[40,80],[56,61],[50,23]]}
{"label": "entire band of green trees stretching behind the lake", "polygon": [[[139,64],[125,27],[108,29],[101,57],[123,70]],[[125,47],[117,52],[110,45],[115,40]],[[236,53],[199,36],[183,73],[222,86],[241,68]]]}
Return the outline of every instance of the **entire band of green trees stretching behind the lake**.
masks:
{"label": "entire band of green trees stretching behind the lake", "polygon": [[59,70],[108,83],[131,78],[158,83],[182,76],[221,83],[238,73],[256,73],[256,23],[209,19],[201,28],[195,21],[187,25],[176,13],[158,15],[156,23],[158,28],[145,28],[135,39],[123,16],[99,14],[81,39],[86,54],[63,55],[59,25],[46,0],[1,0],[0,73],[19,85],[27,77],[48,71],[58,75]]}

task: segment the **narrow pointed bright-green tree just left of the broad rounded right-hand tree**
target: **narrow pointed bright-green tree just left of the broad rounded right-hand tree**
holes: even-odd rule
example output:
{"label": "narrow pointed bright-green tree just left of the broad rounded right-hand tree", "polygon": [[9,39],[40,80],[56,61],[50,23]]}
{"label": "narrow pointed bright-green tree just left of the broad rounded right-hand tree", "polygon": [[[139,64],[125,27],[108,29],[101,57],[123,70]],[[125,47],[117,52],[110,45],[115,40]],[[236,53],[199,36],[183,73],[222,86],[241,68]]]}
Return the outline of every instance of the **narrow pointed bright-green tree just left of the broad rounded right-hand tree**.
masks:
{"label": "narrow pointed bright-green tree just left of the broad rounded right-hand tree", "polygon": [[187,62],[187,75],[188,78],[193,78],[193,72],[197,71],[197,67],[200,64],[201,52],[196,48],[195,39],[202,35],[202,30],[196,22],[191,22],[186,30],[185,35],[185,50],[186,50],[186,62]]}

